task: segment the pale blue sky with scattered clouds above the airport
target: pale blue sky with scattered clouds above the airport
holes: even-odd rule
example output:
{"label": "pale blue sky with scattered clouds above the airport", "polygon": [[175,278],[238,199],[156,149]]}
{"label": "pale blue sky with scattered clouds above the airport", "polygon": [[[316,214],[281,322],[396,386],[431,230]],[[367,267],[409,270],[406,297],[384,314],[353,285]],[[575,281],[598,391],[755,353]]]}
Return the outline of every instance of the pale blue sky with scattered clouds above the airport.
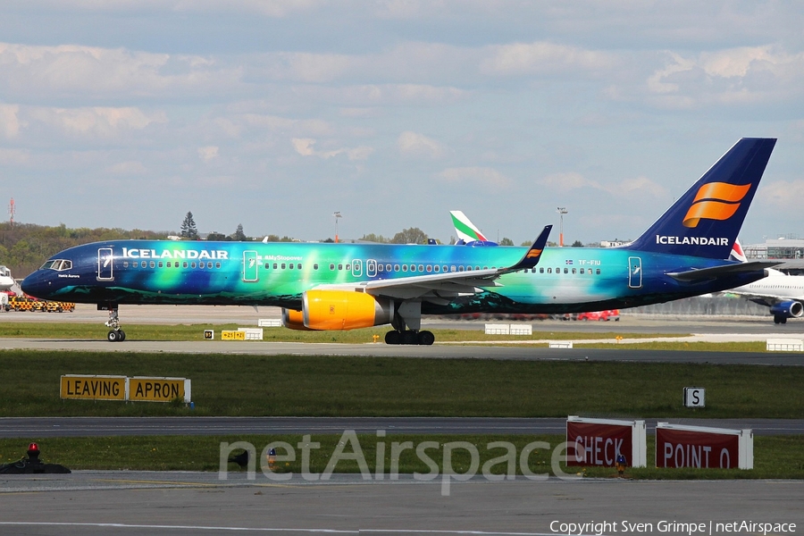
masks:
{"label": "pale blue sky with scattered clouds above the airport", "polygon": [[516,244],[563,207],[590,243],[773,137],[740,238],[804,236],[802,28],[792,0],[4,1],[0,203],[302,240],[448,241],[462,210]]}

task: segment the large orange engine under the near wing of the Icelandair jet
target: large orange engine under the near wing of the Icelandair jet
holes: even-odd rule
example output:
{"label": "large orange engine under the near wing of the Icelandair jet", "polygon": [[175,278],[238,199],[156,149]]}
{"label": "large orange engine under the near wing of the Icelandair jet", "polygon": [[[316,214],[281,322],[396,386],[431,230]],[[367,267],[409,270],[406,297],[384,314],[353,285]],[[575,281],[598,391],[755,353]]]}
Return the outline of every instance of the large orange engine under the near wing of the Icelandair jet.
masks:
{"label": "large orange engine under the near wing of the Icelandair jet", "polygon": [[[390,323],[394,315],[390,300],[351,290],[308,290],[302,307],[302,325],[308,330],[370,328]],[[295,314],[288,316],[295,320]]]}

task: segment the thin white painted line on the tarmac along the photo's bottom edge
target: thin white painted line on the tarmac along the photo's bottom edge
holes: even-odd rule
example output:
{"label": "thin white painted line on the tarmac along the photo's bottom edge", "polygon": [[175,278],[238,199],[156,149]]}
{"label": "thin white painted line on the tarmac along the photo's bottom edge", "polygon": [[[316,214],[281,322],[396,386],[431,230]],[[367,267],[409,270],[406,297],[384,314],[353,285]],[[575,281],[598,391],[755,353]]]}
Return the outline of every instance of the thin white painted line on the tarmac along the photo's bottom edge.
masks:
{"label": "thin white painted line on the tarmac along the photo's bottom edge", "polygon": [[[489,531],[448,531],[428,529],[280,529],[273,527],[222,527],[203,525],[151,525],[131,523],[59,523],[59,522],[25,522],[0,521],[0,525],[14,526],[54,526],[54,527],[113,527],[119,529],[175,529],[180,531],[238,531],[238,532],[323,532],[327,534],[359,534],[361,532],[393,532],[405,534],[478,534],[480,536],[569,536],[557,532],[489,532]],[[577,534],[573,536],[592,536]]]}

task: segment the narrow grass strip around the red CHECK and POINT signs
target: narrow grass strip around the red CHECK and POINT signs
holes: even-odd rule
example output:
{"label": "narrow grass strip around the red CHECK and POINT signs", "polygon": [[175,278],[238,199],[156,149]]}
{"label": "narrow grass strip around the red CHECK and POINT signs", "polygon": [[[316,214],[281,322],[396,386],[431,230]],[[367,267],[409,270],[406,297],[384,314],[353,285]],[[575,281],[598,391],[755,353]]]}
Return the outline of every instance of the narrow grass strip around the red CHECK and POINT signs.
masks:
{"label": "narrow grass strip around the red CHECK and POINT signs", "polygon": [[[373,434],[356,434],[356,440],[344,435],[313,434],[307,440],[319,444],[319,448],[311,448],[310,472],[322,473],[330,463],[337,448],[346,455],[354,456],[358,450],[363,456],[368,472],[372,478],[377,473],[389,473],[392,464],[398,465],[398,473],[431,473],[431,466],[416,452],[416,447],[429,441],[424,453],[433,464],[438,465],[439,473],[443,473],[444,445],[450,442],[471,443],[479,455],[480,463],[477,473],[489,463],[488,472],[505,474],[510,471],[507,463],[500,460],[509,450],[493,445],[493,442],[506,442],[513,445],[515,453],[514,470],[522,475],[521,454],[523,448],[532,441],[543,441],[549,448],[539,447],[527,456],[528,468],[532,473],[555,475],[552,469],[553,450],[564,440],[561,435],[506,436],[506,435],[414,435],[391,434],[378,438]],[[0,440],[0,462],[10,463],[19,460],[25,454],[29,441],[36,441],[42,451],[41,459],[46,463],[56,463],[72,470],[130,470],[130,471],[218,471],[222,443],[233,446],[237,442],[248,443],[255,448],[264,464],[261,453],[264,448],[276,441],[284,441],[295,450],[295,460],[280,462],[276,465],[277,473],[300,473],[302,471],[302,455],[299,444],[306,438],[300,434],[282,434],[276,436],[139,436],[108,438],[30,438],[26,440]],[[655,436],[648,436],[648,467],[629,467],[626,476],[640,480],[683,480],[683,479],[802,479],[804,478],[804,439],[800,437],[766,437],[754,438],[754,469],[667,469],[655,466]],[[409,442],[406,448],[399,448]],[[394,447],[394,443],[398,447]],[[242,443],[239,443],[242,444]],[[340,447],[339,447],[340,444]],[[381,463],[378,464],[377,452],[381,451]],[[241,450],[225,449],[224,453],[237,454]],[[277,448],[277,454],[287,454],[285,448]],[[453,446],[451,465],[456,473],[465,473],[472,465],[469,450]],[[396,453],[392,461],[392,454]],[[561,453],[563,454],[563,453]],[[496,461],[495,461],[496,460]],[[257,483],[268,482],[259,475],[257,465]],[[378,467],[380,470],[378,471]],[[567,467],[559,465],[564,473],[582,474],[583,476],[607,478],[616,476],[616,470],[610,467]],[[244,471],[239,465],[227,465],[230,472]],[[335,473],[360,473],[356,460],[340,459],[334,465]],[[385,477],[386,479],[388,477]]]}

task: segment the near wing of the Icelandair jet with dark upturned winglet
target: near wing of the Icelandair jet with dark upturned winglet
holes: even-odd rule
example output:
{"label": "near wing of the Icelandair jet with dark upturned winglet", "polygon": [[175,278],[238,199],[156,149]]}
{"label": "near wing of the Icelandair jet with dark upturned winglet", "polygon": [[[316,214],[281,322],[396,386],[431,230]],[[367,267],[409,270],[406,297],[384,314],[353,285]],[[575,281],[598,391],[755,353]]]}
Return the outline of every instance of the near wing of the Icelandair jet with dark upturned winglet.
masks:
{"label": "near wing of the Icelandair jet with dark upturned winglet", "polygon": [[[466,272],[432,273],[390,280],[363,281],[356,285],[350,285],[349,288],[362,290],[374,296],[398,299],[423,298],[432,303],[446,304],[450,298],[460,294],[476,294],[478,288],[498,287],[500,285],[496,280],[499,276],[505,273],[526,270],[538,264],[552,228],[552,225],[547,225],[541,231],[539,238],[533,241],[532,246],[528,248],[523,257],[511,266]],[[341,286],[334,285],[322,285],[319,288],[332,289],[335,287],[341,288]]]}

